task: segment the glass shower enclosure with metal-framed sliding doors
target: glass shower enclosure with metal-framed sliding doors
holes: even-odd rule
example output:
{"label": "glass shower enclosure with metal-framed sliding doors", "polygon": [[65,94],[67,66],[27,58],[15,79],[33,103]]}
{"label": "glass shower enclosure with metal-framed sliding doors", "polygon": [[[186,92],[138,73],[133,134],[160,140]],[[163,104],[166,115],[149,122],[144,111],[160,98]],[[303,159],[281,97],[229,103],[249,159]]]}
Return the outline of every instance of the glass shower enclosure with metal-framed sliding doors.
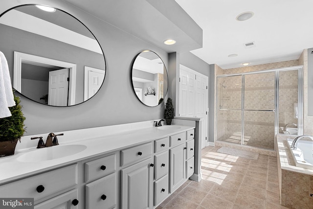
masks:
{"label": "glass shower enclosure with metal-framed sliding doors", "polygon": [[302,67],[217,76],[217,140],[275,150],[302,134]]}

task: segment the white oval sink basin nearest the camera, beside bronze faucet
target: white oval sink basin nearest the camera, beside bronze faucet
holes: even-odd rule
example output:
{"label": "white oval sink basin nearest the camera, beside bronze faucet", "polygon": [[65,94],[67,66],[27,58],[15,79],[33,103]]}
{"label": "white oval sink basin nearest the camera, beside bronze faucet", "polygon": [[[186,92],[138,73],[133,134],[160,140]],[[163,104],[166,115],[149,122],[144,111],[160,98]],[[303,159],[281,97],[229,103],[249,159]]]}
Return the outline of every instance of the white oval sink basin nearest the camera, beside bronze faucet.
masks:
{"label": "white oval sink basin nearest the camera, beside bronze faucet", "polygon": [[63,145],[50,146],[39,148],[34,151],[22,154],[17,158],[20,162],[41,162],[47,160],[54,160],[84,151],[87,148],[85,145]]}

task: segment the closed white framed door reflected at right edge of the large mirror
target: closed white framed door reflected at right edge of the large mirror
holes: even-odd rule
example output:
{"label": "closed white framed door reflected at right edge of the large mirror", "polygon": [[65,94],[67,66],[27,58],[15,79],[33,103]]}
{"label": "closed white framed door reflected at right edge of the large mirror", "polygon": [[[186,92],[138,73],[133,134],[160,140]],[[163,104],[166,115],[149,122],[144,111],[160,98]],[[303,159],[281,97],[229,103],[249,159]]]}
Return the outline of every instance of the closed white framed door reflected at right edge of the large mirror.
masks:
{"label": "closed white framed door reflected at right edge of the large mirror", "polygon": [[84,75],[84,101],[86,101],[98,92],[104,80],[105,70],[85,66]]}

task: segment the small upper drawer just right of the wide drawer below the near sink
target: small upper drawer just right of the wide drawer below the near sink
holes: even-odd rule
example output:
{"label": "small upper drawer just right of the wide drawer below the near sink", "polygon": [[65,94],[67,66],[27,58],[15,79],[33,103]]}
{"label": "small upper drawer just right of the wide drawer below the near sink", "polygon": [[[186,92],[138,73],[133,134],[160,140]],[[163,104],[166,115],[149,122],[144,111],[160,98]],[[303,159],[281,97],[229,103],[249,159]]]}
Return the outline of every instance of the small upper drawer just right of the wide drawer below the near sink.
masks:
{"label": "small upper drawer just right of the wide drawer below the near sink", "polygon": [[85,163],[85,182],[106,176],[116,170],[115,154]]}

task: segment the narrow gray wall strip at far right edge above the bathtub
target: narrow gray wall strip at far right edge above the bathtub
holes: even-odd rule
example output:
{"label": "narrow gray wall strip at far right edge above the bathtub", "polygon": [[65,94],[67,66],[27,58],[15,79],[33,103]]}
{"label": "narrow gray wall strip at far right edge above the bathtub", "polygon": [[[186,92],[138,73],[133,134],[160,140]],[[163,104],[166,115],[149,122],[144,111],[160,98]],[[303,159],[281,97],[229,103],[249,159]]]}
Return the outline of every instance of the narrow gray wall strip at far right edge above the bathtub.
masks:
{"label": "narrow gray wall strip at far right edge above the bathtub", "polygon": [[313,116],[313,48],[308,49],[308,115]]}

